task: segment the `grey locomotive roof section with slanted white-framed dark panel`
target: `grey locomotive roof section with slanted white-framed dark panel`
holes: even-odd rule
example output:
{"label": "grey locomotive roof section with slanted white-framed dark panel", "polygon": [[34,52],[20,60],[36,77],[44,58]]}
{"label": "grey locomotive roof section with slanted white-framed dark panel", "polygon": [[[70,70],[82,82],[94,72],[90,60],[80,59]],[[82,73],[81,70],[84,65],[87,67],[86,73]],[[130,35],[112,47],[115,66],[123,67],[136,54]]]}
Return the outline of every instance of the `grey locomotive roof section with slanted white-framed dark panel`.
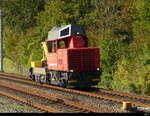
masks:
{"label": "grey locomotive roof section with slanted white-framed dark panel", "polygon": [[55,26],[48,32],[48,40],[73,36],[76,35],[77,32],[79,33],[79,35],[85,35],[82,25],[69,24],[60,27]]}

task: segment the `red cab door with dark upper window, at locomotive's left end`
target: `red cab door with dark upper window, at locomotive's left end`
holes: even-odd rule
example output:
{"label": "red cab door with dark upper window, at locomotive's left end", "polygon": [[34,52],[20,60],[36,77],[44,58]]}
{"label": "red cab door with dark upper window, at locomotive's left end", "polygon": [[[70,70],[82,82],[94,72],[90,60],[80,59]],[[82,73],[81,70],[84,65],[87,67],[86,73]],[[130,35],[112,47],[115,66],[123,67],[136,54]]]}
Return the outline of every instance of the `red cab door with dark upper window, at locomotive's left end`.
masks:
{"label": "red cab door with dark upper window, at locomotive's left end", "polygon": [[48,41],[48,56],[47,56],[47,66],[49,70],[57,70],[57,50],[56,41]]}

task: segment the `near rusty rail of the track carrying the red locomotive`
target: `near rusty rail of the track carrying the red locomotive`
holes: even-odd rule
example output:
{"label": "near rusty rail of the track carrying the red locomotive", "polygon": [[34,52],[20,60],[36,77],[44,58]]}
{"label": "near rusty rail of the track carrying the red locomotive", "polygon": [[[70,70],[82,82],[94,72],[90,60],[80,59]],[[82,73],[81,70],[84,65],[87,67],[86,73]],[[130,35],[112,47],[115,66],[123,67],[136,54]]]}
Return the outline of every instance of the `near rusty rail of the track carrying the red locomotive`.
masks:
{"label": "near rusty rail of the track carrying the red locomotive", "polygon": [[[4,77],[4,76],[0,76],[0,78],[9,79],[9,80],[12,79],[12,78],[10,79],[9,77]],[[118,99],[118,98],[113,98],[113,97],[110,97],[110,96],[107,96],[107,95],[99,95],[99,94],[96,94],[96,93],[78,91],[78,90],[62,88],[62,87],[46,85],[46,84],[42,84],[41,85],[39,83],[32,82],[32,81],[29,81],[29,80],[21,80],[21,78],[18,78],[18,77],[17,78],[13,78],[12,80],[19,81],[19,82],[24,82],[24,83],[31,84],[31,85],[38,85],[38,86],[51,88],[51,89],[57,89],[57,90],[60,90],[60,91],[76,93],[76,94],[80,94],[80,95],[84,95],[84,96],[89,96],[89,97],[94,97],[94,98],[100,98],[100,99],[104,99],[104,100],[114,101],[114,102],[118,102],[118,103],[121,103],[121,104],[124,101],[124,100],[121,100],[121,99]],[[134,102],[134,101],[131,101],[131,103],[132,103],[132,105],[140,106],[140,107],[144,107],[144,108],[149,108],[150,107],[150,105],[143,104],[143,103],[138,103],[138,102]]]}

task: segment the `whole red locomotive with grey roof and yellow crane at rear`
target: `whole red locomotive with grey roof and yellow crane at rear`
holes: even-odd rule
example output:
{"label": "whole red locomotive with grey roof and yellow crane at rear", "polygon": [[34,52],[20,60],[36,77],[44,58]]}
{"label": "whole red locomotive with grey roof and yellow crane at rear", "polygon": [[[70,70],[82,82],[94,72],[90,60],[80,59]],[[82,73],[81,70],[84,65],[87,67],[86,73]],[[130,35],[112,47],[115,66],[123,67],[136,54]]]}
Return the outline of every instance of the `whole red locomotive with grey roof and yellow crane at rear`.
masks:
{"label": "whole red locomotive with grey roof and yellow crane at rear", "polygon": [[52,28],[41,46],[43,59],[31,62],[32,80],[63,87],[88,87],[100,81],[99,49],[87,47],[81,25]]}

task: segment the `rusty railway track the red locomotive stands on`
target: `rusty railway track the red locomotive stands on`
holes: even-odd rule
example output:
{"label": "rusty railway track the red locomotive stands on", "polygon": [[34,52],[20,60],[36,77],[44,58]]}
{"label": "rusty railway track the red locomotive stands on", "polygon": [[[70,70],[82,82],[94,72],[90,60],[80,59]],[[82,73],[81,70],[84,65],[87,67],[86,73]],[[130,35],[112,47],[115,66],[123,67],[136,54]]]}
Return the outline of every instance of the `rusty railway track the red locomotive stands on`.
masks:
{"label": "rusty railway track the red locomotive stands on", "polygon": [[[92,92],[87,92],[87,91],[85,92],[85,91],[80,91],[80,90],[67,89],[67,88],[61,88],[61,87],[45,85],[45,84],[41,85],[39,83],[32,82],[29,78],[23,78],[22,76],[11,75],[11,74],[6,74],[6,73],[0,73],[0,78],[6,79],[6,80],[17,81],[21,83],[27,83],[27,84],[31,84],[35,86],[53,88],[53,89],[57,89],[60,91],[65,91],[65,92],[72,92],[72,93],[80,94],[83,96],[117,102],[119,104],[122,104],[123,101],[130,101],[131,104],[136,107],[150,108],[149,97],[135,96],[135,95],[119,93],[116,91],[109,91],[109,90],[104,90],[104,89],[100,89],[100,93],[92,93]],[[116,96],[119,96],[119,97],[116,97]],[[126,98],[128,98],[129,100],[127,100]]]}

